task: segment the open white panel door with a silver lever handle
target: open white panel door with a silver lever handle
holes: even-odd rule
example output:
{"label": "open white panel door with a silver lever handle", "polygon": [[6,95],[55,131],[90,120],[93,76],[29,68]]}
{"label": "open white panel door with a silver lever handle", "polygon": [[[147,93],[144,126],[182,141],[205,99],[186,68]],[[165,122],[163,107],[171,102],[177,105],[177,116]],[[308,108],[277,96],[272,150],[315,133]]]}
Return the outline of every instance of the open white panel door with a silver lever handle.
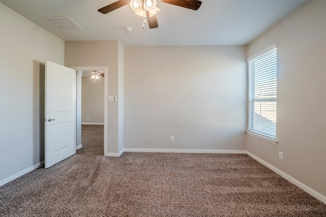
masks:
{"label": "open white panel door with a silver lever handle", "polygon": [[45,168],[76,153],[76,72],[45,64]]}

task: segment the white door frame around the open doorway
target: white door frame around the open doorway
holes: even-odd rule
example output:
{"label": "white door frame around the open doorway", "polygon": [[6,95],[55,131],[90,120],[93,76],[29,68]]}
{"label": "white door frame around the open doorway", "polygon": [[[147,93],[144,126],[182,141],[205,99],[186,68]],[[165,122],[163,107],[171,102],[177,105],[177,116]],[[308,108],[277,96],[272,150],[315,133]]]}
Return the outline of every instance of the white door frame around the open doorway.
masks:
{"label": "white door frame around the open doorway", "polygon": [[[78,86],[78,79],[79,79],[78,73],[80,73],[80,71],[81,71],[81,74],[83,73],[83,71],[93,71],[93,70],[104,71],[104,99],[103,99],[104,100],[104,145],[103,146],[104,146],[104,156],[105,156],[105,153],[107,152],[107,126],[108,126],[107,100],[106,100],[107,99],[107,84],[108,84],[107,67],[70,67],[70,68],[74,69],[77,73],[77,80],[76,80],[77,86]],[[82,84],[82,75],[80,75],[80,85],[81,84]],[[78,97],[78,95],[81,96],[81,94],[82,94],[81,91],[82,91],[81,88],[77,88],[77,90],[76,90],[77,96],[76,97]],[[77,103],[76,106],[77,106],[76,115],[78,115],[78,113],[79,113],[78,106],[81,106],[81,104]],[[80,109],[81,109],[81,107],[79,108],[79,111],[80,111]],[[80,125],[81,125],[81,121],[80,121]],[[78,126],[76,126],[76,128],[78,128]],[[76,136],[77,136],[77,132],[76,132]],[[79,146],[79,144],[76,143],[76,149],[77,149],[77,146]]]}

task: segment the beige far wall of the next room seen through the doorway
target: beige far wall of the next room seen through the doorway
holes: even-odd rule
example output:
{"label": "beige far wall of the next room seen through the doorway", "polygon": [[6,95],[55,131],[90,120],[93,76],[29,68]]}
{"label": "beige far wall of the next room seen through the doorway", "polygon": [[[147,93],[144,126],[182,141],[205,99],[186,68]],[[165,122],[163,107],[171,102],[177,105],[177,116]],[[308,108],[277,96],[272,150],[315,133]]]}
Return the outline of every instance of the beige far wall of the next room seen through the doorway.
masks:
{"label": "beige far wall of the next room seen through the doorway", "polygon": [[95,84],[91,77],[82,77],[82,123],[104,123],[103,77]]}

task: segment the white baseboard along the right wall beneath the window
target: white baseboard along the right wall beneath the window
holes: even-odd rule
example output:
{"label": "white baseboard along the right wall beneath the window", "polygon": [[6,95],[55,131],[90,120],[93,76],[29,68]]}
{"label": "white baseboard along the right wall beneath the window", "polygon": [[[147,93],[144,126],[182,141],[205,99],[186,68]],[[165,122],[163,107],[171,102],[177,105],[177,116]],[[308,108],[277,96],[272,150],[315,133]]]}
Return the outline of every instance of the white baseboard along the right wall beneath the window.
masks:
{"label": "white baseboard along the right wall beneath the window", "polygon": [[252,157],[253,159],[255,159],[256,161],[258,161],[259,163],[261,163],[262,165],[268,167],[269,169],[273,170],[274,172],[276,172],[277,174],[279,174],[280,176],[282,176],[283,178],[285,178],[286,180],[288,180],[289,182],[291,182],[292,184],[295,184],[297,187],[301,188],[302,190],[304,190],[305,192],[307,192],[308,194],[310,194],[311,196],[315,197],[316,199],[320,200],[321,202],[323,202],[324,204],[326,204],[326,197],[323,196],[322,194],[319,194],[318,192],[316,192],[315,190],[309,188],[307,185],[305,185],[304,183],[296,180],[295,178],[291,177],[290,175],[286,174],[285,172],[279,170],[278,168],[274,167],[273,165],[268,164],[266,161],[258,158],[257,156],[255,156],[254,154],[252,154],[249,151],[246,151],[247,154]]}

